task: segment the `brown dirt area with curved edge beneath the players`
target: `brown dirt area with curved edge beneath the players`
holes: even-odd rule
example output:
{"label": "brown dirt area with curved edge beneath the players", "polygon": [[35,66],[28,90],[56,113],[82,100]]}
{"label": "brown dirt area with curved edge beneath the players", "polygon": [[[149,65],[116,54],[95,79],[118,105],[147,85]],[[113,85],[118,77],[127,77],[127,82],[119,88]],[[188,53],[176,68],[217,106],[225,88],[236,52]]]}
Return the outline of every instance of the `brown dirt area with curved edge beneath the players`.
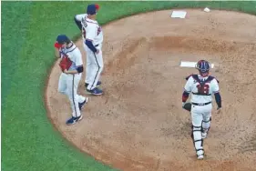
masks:
{"label": "brown dirt area with curved edge beneath the players", "polygon": [[[256,16],[186,11],[185,19],[171,18],[167,10],[103,27],[105,95],[90,96],[84,119],[74,126],[65,124],[71,109],[57,92],[60,69],[54,66],[48,116],[68,141],[125,171],[256,170]],[[77,45],[84,53],[82,42]],[[223,100],[220,114],[214,103],[203,161],[189,136],[189,113],[181,109],[185,77],[197,70],[179,66],[200,59],[217,66],[211,75],[220,81]],[[84,78],[78,92],[86,96]]]}

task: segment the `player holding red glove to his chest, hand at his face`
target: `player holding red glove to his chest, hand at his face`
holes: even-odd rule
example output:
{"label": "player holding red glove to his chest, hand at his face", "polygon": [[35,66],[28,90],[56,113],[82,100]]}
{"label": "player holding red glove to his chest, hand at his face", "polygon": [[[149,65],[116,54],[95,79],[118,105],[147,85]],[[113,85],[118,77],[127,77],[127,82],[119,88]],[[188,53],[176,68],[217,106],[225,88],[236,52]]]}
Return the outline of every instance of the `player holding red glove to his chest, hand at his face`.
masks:
{"label": "player holding red glove to his chest, hand at his face", "polygon": [[67,35],[58,35],[55,47],[56,56],[61,58],[59,66],[62,71],[58,80],[58,92],[66,95],[70,101],[72,117],[66,124],[72,125],[82,119],[81,110],[88,101],[87,97],[77,95],[77,87],[84,70],[82,54]]}

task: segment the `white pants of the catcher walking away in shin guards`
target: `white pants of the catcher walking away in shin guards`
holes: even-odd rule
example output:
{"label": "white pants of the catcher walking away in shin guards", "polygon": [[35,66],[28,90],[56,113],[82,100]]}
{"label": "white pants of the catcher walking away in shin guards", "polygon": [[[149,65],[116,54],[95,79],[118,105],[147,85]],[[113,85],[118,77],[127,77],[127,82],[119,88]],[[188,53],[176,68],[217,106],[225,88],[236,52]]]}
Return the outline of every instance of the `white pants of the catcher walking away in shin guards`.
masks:
{"label": "white pants of the catcher walking away in shin guards", "polygon": [[192,117],[192,138],[195,146],[197,156],[203,155],[203,139],[201,138],[202,131],[202,121],[204,119],[210,119],[212,105],[206,106],[194,106],[191,108],[191,117]]}

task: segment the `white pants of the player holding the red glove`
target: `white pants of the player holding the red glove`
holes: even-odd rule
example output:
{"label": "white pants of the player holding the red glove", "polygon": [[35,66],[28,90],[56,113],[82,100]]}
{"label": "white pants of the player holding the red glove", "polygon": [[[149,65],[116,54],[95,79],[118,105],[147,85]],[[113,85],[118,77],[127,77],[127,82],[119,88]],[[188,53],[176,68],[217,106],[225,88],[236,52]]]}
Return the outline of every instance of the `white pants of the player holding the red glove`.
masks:
{"label": "white pants of the player holding the red glove", "polygon": [[77,87],[81,79],[81,74],[67,75],[62,73],[58,82],[58,92],[66,95],[72,108],[72,116],[81,116],[78,103],[85,101],[86,97],[77,95]]}

